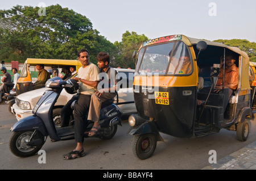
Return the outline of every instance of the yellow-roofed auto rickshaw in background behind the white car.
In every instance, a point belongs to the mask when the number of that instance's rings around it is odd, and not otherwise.
[[[50,69],[61,69],[65,66],[76,66],[76,70],[78,70],[82,66],[81,62],[78,60],[27,58],[17,81],[17,95],[33,90],[30,66],[36,66],[37,64],[44,64],[45,68],[48,67]]]

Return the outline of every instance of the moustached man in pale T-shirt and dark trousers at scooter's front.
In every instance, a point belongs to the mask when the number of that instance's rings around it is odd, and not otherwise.
[[[82,66],[77,71],[76,81],[79,81],[79,99],[74,106],[75,119],[75,141],[77,143],[76,149],[64,154],[64,159],[75,159],[83,157],[84,152],[84,117],[87,115],[90,106],[90,98],[96,91],[98,85],[98,74],[100,73],[96,65],[89,62],[89,52],[86,49],[81,49],[77,53],[77,58]]]

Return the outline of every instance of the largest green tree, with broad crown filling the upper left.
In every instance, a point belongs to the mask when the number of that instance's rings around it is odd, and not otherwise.
[[[115,49],[86,16],[60,5],[46,7],[46,16],[39,9],[18,5],[0,10],[0,60],[76,59],[77,51],[86,48],[95,63],[98,52]]]

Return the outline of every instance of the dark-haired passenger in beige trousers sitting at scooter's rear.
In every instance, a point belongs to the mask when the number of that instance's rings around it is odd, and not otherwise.
[[[101,111],[101,103],[106,100],[114,99],[119,90],[118,73],[114,68],[109,66],[109,54],[100,52],[97,55],[98,68],[100,68],[100,83],[98,84],[98,91],[92,95],[90,100],[90,108],[88,113],[88,120],[94,122],[93,128],[90,130],[88,136],[94,136],[101,128],[98,123]],[[101,79],[103,78],[103,79]]]

